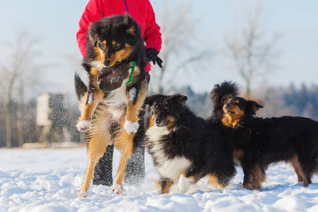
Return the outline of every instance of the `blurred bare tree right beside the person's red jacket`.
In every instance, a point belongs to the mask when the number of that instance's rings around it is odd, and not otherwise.
[[[157,93],[163,93],[163,83],[167,84],[167,89],[172,85],[172,81],[177,78],[180,71],[191,70],[191,65],[203,66],[206,57],[211,56],[211,50],[194,49],[196,37],[196,20],[189,16],[192,1],[178,1],[177,4],[164,0],[162,13],[159,14],[160,32],[162,34],[163,46],[159,57],[163,59],[163,68],[153,66],[151,75],[151,86]],[[193,69],[192,69],[193,70]],[[201,69],[204,70],[204,69]],[[196,71],[199,71],[196,69]]]

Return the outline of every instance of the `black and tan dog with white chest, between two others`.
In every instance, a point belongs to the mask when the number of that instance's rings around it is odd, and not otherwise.
[[[160,180],[160,194],[172,184],[187,192],[190,182],[208,176],[208,182],[225,187],[235,166],[225,148],[218,124],[208,125],[189,110],[184,95],[152,95],[146,98],[146,148]]]

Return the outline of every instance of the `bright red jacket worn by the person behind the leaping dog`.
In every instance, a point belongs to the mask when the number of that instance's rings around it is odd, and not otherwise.
[[[90,0],[83,12],[79,22],[79,30],[76,34],[78,47],[83,57],[86,55],[89,24],[103,17],[124,14],[127,9],[128,13],[141,26],[146,48],[154,48],[160,51],[162,44],[160,27],[155,23],[155,13],[149,0],[126,0],[126,5],[124,0]],[[146,71],[150,70],[151,66],[148,65]]]

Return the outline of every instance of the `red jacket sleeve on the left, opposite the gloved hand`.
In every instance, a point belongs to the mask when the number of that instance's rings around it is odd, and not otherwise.
[[[81,51],[82,56],[85,58],[86,56],[86,42],[88,40],[87,32],[90,26],[90,23],[94,23],[100,18],[104,17],[104,13],[102,12],[104,8],[104,4],[102,0],[90,0],[86,5],[85,10],[81,16],[79,21],[79,30],[76,34],[76,40],[78,44],[78,48]]]

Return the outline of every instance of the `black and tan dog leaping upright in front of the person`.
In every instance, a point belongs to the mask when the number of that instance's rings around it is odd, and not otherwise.
[[[88,37],[88,52],[83,61],[89,76],[88,87],[79,76],[75,77],[81,102],[81,118],[76,126],[80,131],[89,129],[88,167],[78,196],[88,196],[94,167],[111,144],[122,153],[112,186],[116,194],[121,194],[126,161],[139,136],[137,115],[148,93],[141,29],[129,15],[112,16],[91,24]]]

